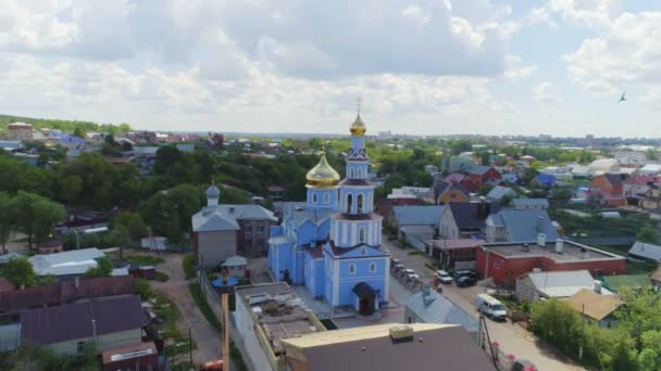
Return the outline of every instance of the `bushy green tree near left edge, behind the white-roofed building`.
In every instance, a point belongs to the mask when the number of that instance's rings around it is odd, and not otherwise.
[[[27,235],[27,245],[42,242],[51,233],[57,222],[63,221],[66,214],[62,205],[38,194],[18,191],[11,201],[15,212],[15,226]]]

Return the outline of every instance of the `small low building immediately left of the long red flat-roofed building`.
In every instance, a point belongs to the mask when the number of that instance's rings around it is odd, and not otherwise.
[[[429,256],[452,269],[475,269],[477,248],[485,241],[479,239],[428,241]]]

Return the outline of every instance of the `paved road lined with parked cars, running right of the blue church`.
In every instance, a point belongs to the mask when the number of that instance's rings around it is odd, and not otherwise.
[[[431,282],[434,276],[432,269],[425,266],[428,260],[421,255],[409,255],[411,250],[400,248],[394,241],[387,241],[384,235],[384,244],[390,248],[394,257],[402,260],[407,268],[414,269],[424,282]],[[444,295],[462,309],[477,318],[478,314],[474,304],[475,295],[484,291],[484,286],[459,289],[454,285],[444,285]],[[566,364],[554,355],[538,346],[535,338],[520,325],[511,322],[495,322],[487,320],[487,328],[491,341],[500,343],[501,349],[516,357],[527,358],[533,361],[540,371],[581,370],[581,368]]]

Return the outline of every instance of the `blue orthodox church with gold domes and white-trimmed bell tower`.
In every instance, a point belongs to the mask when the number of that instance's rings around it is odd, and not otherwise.
[[[381,247],[382,217],[373,213],[365,130],[359,113],[350,129],[346,179],[340,181],[322,153],[307,176],[307,202],[284,204],[282,225],[271,229],[269,269],[278,281],[304,285],[334,307],[369,315],[388,302],[390,254]]]

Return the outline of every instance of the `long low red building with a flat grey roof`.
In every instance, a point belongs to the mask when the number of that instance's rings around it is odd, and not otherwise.
[[[476,271],[506,287],[515,285],[517,277],[535,269],[546,271],[587,270],[594,277],[623,274],[626,258],[572,241],[557,240],[485,243],[477,250]]]

